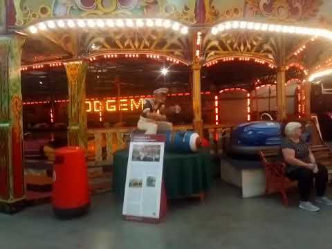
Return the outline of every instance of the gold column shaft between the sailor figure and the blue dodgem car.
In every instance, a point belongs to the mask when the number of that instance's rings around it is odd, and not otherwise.
[[[194,129],[203,136],[202,102],[201,102],[201,66],[192,65],[192,109]]]

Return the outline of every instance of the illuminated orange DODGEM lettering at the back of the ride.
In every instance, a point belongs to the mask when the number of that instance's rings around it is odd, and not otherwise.
[[[122,98],[119,100],[86,100],[85,106],[88,113],[101,111],[138,111],[143,109],[143,99]]]

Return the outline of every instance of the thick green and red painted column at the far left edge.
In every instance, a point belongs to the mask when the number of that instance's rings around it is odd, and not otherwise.
[[[0,35],[0,212],[23,208],[23,102],[21,54],[24,37]]]

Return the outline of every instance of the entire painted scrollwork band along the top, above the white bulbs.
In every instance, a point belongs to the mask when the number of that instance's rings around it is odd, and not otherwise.
[[[102,16],[163,17],[187,24],[244,18],[330,26],[331,10],[329,0],[9,0],[8,25],[22,27],[39,19]]]

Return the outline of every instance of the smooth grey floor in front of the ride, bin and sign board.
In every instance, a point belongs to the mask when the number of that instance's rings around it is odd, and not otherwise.
[[[88,216],[71,221],[55,219],[50,205],[0,214],[0,248],[332,248],[332,207],[311,213],[297,208],[296,193],[291,199],[290,208],[279,196],[243,200],[217,182],[205,203],[173,202],[165,221],[150,225],[122,221],[120,203],[101,194]]]

